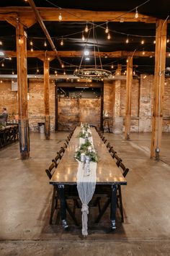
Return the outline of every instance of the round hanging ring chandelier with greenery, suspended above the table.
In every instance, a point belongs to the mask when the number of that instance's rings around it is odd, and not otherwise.
[[[94,29],[94,23],[91,26],[91,29],[89,30],[89,35],[91,33],[91,30],[92,30],[92,34],[93,34],[93,46],[94,46],[94,67],[85,68],[85,69],[81,67],[82,61],[83,61],[84,57],[86,56],[86,54],[83,54],[83,56],[81,57],[81,63],[79,65],[79,69],[76,69],[76,71],[73,74],[76,77],[79,77],[82,79],[101,81],[101,80],[104,80],[105,78],[109,78],[112,75],[112,72],[102,68],[102,60],[101,60],[101,56],[99,53],[99,46],[98,46],[98,42],[97,42],[96,32]],[[89,35],[86,40],[86,44],[88,43]],[[96,56],[96,52],[97,52],[97,56]],[[86,46],[84,49],[84,53],[86,53]],[[99,58],[99,64],[97,64],[97,57]]]

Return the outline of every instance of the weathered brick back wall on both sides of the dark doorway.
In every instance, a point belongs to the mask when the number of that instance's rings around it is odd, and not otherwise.
[[[11,88],[11,80],[0,80],[0,110],[3,106],[6,106],[9,112],[9,118],[13,119],[14,114],[18,112],[17,92],[12,92]],[[30,129],[32,131],[38,131],[37,123],[44,122],[43,88],[43,80],[29,80],[28,115]],[[125,88],[125,80],[104,82],[104,111],[107,111],[111,117],[111,121],[125,120]],[[138,104],[139,102],[140,104]],[[153,75],[141,75],[139,80],[133,80],[131,132],[151,132],[152,109]],[[122,131],[124,128],[122,125]],[[51,131],[55,129],[55,84],[52,81],[50,81],[50,129]],[[170,79],[167,78],[165,80],[164,121],[162,130],[164,132],[170,132]]]

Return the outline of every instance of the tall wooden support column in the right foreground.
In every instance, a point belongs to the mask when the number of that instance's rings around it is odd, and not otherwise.
[[[151,158],[158,160],[161,147],[161,133],[164,101],[164,71],[166,64],[167,22],[156,22],[155,74],[153,81],[153,120],[151,137]]]

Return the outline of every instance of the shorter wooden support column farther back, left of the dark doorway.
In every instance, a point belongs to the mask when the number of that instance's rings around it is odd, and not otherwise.
[[[44,103],[45,103],[45,137],[50,139],[50,81],[49,81],[50,61],[47,57],[44,59]]]

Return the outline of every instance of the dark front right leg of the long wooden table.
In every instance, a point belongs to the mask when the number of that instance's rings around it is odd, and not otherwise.
[[[116,229],[116,205],[117,205],[117,185],[112,184],[111,205],[110,205],[110,221],[111,229]]]

